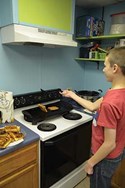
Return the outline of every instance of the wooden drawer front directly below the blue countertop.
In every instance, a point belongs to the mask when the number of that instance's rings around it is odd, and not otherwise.
[[[38,161],[38,143],[0,157],[0,178]]]

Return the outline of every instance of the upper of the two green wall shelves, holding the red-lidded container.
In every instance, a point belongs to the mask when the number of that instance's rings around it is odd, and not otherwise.
[[[102,36],[90,36],[90,37],[76,37],[76,40],[98,40],[98,39],[115,39],[115,38],[123,38],[125,34],[114,34],[114,35],[102,35]]]

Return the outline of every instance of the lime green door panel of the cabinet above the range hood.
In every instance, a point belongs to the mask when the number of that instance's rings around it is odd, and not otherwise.
[[[74,0],[18,0],[20,24],[72,33]]]

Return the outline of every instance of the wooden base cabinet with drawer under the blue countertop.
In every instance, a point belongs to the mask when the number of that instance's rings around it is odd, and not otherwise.
[[[38,188],[38,141],[0,157],[0,188]]]

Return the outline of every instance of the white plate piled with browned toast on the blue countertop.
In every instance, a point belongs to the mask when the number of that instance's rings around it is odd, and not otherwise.
[[[18,125],[5,125],[0,128],[0,149],[15,146],[24,141],[25,132]]]

